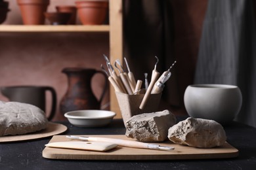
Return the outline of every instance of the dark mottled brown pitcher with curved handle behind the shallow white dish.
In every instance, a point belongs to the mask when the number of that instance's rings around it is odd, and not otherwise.
[[[107,78],[102,71],[79,67],[64,68],[62,73],[68,76],[68,90],[60,101],[62,114],[73,110],[99,110],[107,88]],[[105,85],[99,99],[91,88],[91,80],[96,73],[104,75]]]

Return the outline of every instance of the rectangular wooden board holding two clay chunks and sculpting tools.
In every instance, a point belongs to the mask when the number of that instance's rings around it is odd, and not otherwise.
[[[87,136],[87,135],[83,135]],[[90,135],[94,137],[112,137],[116,139],[128,139],[125,135]],[[60,141],[76,141],[68,139],[64,135],[53,136],[49,143]],[[63,148],[45,147],[43,157],[63,160],[194,160],[213,158],[234,158],[238,156],[238,150],[228,143],[216,148],[194,148],[173,144],[171,141],[158,143],[162,146],[174,146],[175,150],[150,150],[140,148],[128,148],[117,146],[107,152],[95,152],[87,150],[72,150]]]

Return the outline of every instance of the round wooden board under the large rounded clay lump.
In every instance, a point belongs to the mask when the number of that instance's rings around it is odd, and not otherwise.
[[[13,135],[13,136],[4,136],[0,137],[0,143],[7,142],[17,142],[17,141],[28,141],[32,139],[41,139],[44,137],[51,137],[53,135],[58,135],[66,131],[68,127],[62,124],[56,124],[53,122],[49,122],[48,127],[41,131],[36,131],[34,133],[28,133],[25,135]]]

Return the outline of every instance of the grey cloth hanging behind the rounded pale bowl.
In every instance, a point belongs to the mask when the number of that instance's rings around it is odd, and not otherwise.
[[[233,84],[243,95],[236,120],[256,127],[256,35],[251,0],[209,0],[194,84]]]

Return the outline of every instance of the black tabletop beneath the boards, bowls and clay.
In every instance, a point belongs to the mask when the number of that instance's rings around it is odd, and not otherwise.
[[[179,118],[182,120],[184,118]],[[66,135],[123,135],[122,120],[113,120],[106,127],[81,128],[68,122]],[[238,148],[239,156],[211,160],[165,161],[99,161],[99,160],[49,160],[42,157],[45,144],[51,137],[19,143],[0,143],[0,169],[256,169],[256,128],[232,122],[224,126],[228,143]]]

